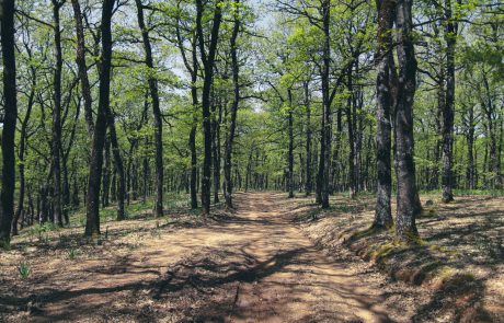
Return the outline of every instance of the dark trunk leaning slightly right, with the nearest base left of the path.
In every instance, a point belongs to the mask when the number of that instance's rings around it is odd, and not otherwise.
[[[100,184],[102,177],[103,146],[110,109],[111,61],[112,61],[112,14],[115,0],[104,0],[102,8],[102,55],[100,64],[100,99],[88,183],[87,237],[100,234]]]

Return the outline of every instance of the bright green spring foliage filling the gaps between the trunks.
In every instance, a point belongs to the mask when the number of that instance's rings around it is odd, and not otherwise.
[[[47,1],[20,1],[18,10],[47,24],[51,23],[51,5]],[[90,14],[84,24],[85,60],[93,99],[95,116],[99,99],[100,46],[98,10],[100,1],[84,1],[83,11]],[[215,1],[204,1],[203,33],[206,39],[211,32]],[[239,103],[238,127],[233,142],[232,168],[236,188],[243,189],[262,177],[277,187],[286,175],[288,154],[288,117],[294,118],[294,172],[299,186],[306,172],[307,135],[312,135],[312,173],[320,155],[321,130],[321,61],[324,33],[321,28],[320,1],[284,1],[290,8],[275,2],[257,3],[243,0],[222,1],[222,25],[217,46],[217,65],[213,83],[211,118],[220,127],[220,158],[229,134],[230,107],[233,100],[230,37],[233,21],[241,22],[238,35],[239,84],[242,100]],[[504,60],[503,18],[488,0],[451,1],[451,20],[448,11],[428,1],[414,2],[416,28],[414,42],[421,72],[417,76],[417,91],[414,103],[414,139],[417,186],[429,187],[431,176],[440,172],[439,150],[442,115],[439,113],[439,89],[446,83],[446,45],[456,44],[456,107],[454,132],[454,165],[459,188],[467,185],[468,136],[474,130],[473,155],[477,170],[478,191],[457,189],[456,194],[502,194],[495,187],[499,172],[489,168],[490,147],[500,145],[502,138]],[[192,84],[190,70],[182,59],[192,66],[192,46],[195,39],[195,3],[182,1],[149,1],[146,10],[147,30],[150,35],[153,67],[147,67],[144,59],[141,31],[135,14],[134,1],[124,3],[114,15],[114,50],[111,85],[111,108],[114,113],[119,154],[123,159],[130,194],[128,215],[137,216],[152,208],[148,197],[146,204],[133,200],[144,189],[144,166],[147,169],[147,185],[152,188],[154,170],[154,127],[151,116],[151,99],[148,80],[154,78],[163,114],[163,162],[164,176],[170,177],[171,191],[185,191],[191,171],[191,151],[187,145],[193,126],[196,127],[196,168],[203,163],[202,86],[204,70],[198,57],[197,80]],[[237,15],[237,12],[239,13]],[[76,32],[75,18],[69,2],[61,10],[62,30],[62,92],[65,117],[61,129],[65,174],[68,176],[70,194],[79,197],[81,204],[87,191],[90,164],[90,138],[83,118],[82,89],[75,67]],[[32,204],[39,198],[41,188],[50,188],[51,182],[51,104],[54,90],[54,33],[49,25],[36,23],[23,14],[16,15],[16,60],[19,79],[19,119],[27,120],[26,148],[23,159],[16,151],[18,168],[24,168],[25,208],[27,195]],[[448,23],[457,23],[457,34],[447,32]],[[376,72],[374,64],[376,46],[376,3],[374,1],[332,1],[330,18],[330,84],[334,94],[332,102],[332,171],[341,187],[348,186],[351,146],[357,142],[359,172],[366,181],[366,189],[374,191],[376,180]],[[391,33],[397,33],[392,30]],[[197,45],[197,44],[195,44]],[[197,49],[198,51],[199,49]],[[199,53],[197,53],[199,54]],[[196,55],[198,56],[198,55]],[[353,62],[353,65],[350,65]],[[352,67],[348,70],[348,67]],[[352,72],[352,73],[350,73]],[[442,76],[445,73],[444,76]],[[444,77],[444,80],[439,78]],[[35,81],[35,82],[33,82]],[[350,81],[353,85],[350,86]],[[308,95],[305,93],[305,84]],[[191,86],[196,86],[198,103],[193,104]],[[440,88],[439,88],[440,86]],[[31,99],[33,90],[34,96]],[[288,93],[291,94],[289,102]],[[260,99],[254,99],[260,97]],[[354,101],[354,103],[352,103]],[[27,106],[33,108],[27,119]],[[354,108],[355,107],[355,108]],[[493,107],[493,111],[490,111]],[[308,113],[311,119],[308,122]],[[473,115],[470,120],[470,115]],[[350,126],[354,138],[350,138]],[[21,126],[19,126],[21,129]],[[492,130],[491,130],[492,129]],[[494,141],[494,142],[493,142]],[[16,147],[21,136],[16,132]],[[437,152],[436,152],[437,149]],[[497,149],[497,150],[499,150]],[[497,155],[502,159],[502,153]],[[497,163],[499,164],[499,163]],[[500,161],[502,164],[502,161]],[[114,162],[108,171],[114,173]],[[222,175],[222,174],[221,174]],[[247,176],[251,178],[247,178]],[[393,175],[394,176],[394,175]],[[62,176],[65,177],[65,176]],[[49,181],[48,181],[49,178]],[[18,175],[18,181],[19,181]],[[117,178],[116,178],[117,180]],[[220,178],[222,180],[222,178]],[[249,181],[247,184],[245,182]],[[396,178],[393,180],[396,182]],[[135,182],[135,184],[134,184]],[[439,181],[438,181],[439,182]],[[66,184],[66,183],[62,183]],[[16,183],[19,185],[19,182]],[[65,185],[64,185],[65,186]],[[75,187],[73,187],[75,186]],[[175,187],[176,186],[176,187]],[[438,185],[439,186],[439,185]],[[250,187],[249,187],[250,188]],[[302,187],[301,187],[302,188]],[[136,191],[136,192],[134,192]],[[147,189],[149,191],[149,189]],[[135,194],[134,194],[135,193]],[[149,192],[150,193],[150,192]],[[46,194],[51,203],[50,193]],[[167,208],[188,207],[187,196],[169,193]],[[66,210],[77,206],[66,205]],[[350,211],[350,210],[342,210]],[[116,218],[114,207],[102,209],[104,220]],[[72,221],[83,226],[84,212],[79,210]],[[47,227],[49,226],[49,227]],[[47,241],[51,224],[35,226],[30,237]]]

